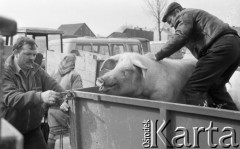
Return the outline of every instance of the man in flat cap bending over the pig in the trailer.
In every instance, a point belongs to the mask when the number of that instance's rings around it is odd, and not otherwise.
[[[183,46],[198,59],[184,89],[187,103],[202,105],[202,101],[210,96],[214,105],[237,110],[225,88],[240,61],[237,32],[206,11],[183,9],[176,2],[168,6],[162,21],[174,27],[175,34],[156,53],[156,60],[170,56]]]

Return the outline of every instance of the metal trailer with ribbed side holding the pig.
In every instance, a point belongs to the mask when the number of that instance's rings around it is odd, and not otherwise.
[[[73,149],[239,148],[240,112],[70,91]]]

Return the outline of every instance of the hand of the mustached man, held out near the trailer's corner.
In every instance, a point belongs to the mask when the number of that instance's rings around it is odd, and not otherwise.
[[[50,105],[55,104],[56,100],[59,99],[60,97],[61,97],[60,93],[52,91],[52,90],[48,90],[48,91],[41,93],[41,98],[42,98],[43,102],[50,104]]]

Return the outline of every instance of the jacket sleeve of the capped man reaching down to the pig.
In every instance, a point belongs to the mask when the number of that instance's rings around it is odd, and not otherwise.
[[[169,57],[180,50],[189,40],[193,29],[193,18],[189,14],[183,14],[176,18],[176,30],[173,37],[156,53],[156,60]]]

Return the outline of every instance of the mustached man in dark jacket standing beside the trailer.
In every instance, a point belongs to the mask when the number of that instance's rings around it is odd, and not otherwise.
[[[33,39],[18,38],[13,50],[4,65],[0,115],[23,134],[24,149],[46,149],[40,129],[43,107],[56,104],[64,90],[34,63],[37,45]]]

